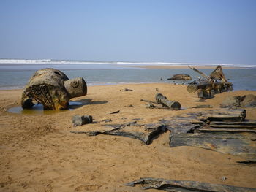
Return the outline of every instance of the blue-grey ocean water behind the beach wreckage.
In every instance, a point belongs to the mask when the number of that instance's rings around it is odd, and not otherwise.
[[[0,89],[23,88],[29,78],[38,69],[51,67],[59,69],[69,79],[83,77],[87,85],[114,85],[126,83],[166,82],[173,74],[189,74],[197,79],[192,69],[145,69],[116,64],[0,64]],[[210,74],[213,69],[200,69]],[[256,68],[249,69],[223,69],[225,76],[233,82],[234,90],[256,91]],[[162,80],[161,80],[162,78]],[[176,81],[176,83],[182,83]]]

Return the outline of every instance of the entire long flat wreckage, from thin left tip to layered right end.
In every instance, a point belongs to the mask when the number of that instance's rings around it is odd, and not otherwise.
[[[164,118],[157,123],[103,124],[98,130],[71,131],[75,134],[116,135],[139,139],[146,145],[156,136],[170,131],[169,145],[203,147],[231,155],[243,162],[256,162],[256,121],[245,120],[246,110],[219,109]]]

